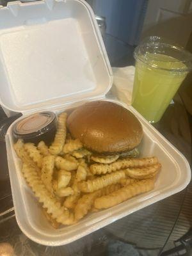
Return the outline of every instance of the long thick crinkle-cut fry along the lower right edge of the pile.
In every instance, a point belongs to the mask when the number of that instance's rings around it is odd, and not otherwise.
[[[96,198],[94,207],[97,209],[107,209],[114,205],[120,204],[133,196],[148,192],[153,188],[154,179],[139,180],[133,184],[120,188],[109,195]]]

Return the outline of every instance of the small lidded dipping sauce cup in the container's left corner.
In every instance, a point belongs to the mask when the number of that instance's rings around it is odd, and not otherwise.
[[[37,144],[43,140],[50,145],[56,133],[57,117],[53,112],[41,112],[23,118],[13,127],[15,140]]]

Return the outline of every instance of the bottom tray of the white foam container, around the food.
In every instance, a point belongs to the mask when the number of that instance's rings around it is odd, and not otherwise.
[[[71,243],[132,212],[173,195],[188,185],[191,179],[191,170],[186,158],[132,107],[121,102],[111,101],[132,111],[143,125],[144,136],[140,145],[141,157],[157,156],[162,164],[154,190],[131,198],[111,209],[88,214],[75,225],[55,230],[45,219],[38,200],[22,177],[21,161],[13,149],[12,124],[6,136],[6,146],[15,216],[22,232],[36,243],[49,246]],[[72,107],[74,104],[68,108]],[[62,109],[62,111],[64,110]],[[60,111],[59,109],[55,110],[56,113],[60,113]]]

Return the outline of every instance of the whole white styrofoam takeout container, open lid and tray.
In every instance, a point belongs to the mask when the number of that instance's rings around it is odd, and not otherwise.
[[[83,0],[17,2],[1,8],[0,61],[0,103],[23,116],[42,110],[60,113],[87,100],[104,100],[113,81],[99,28]],[[140,119],[141,156],[157,156],[162,164],[154,190],[55,230],[20,172],[22,163],[13,150],[13,123],[6,147],[15,216],[22,232],[36,243],[71,243],[188,185],[191,170],[185,157],[132,107],[111,101]]]

